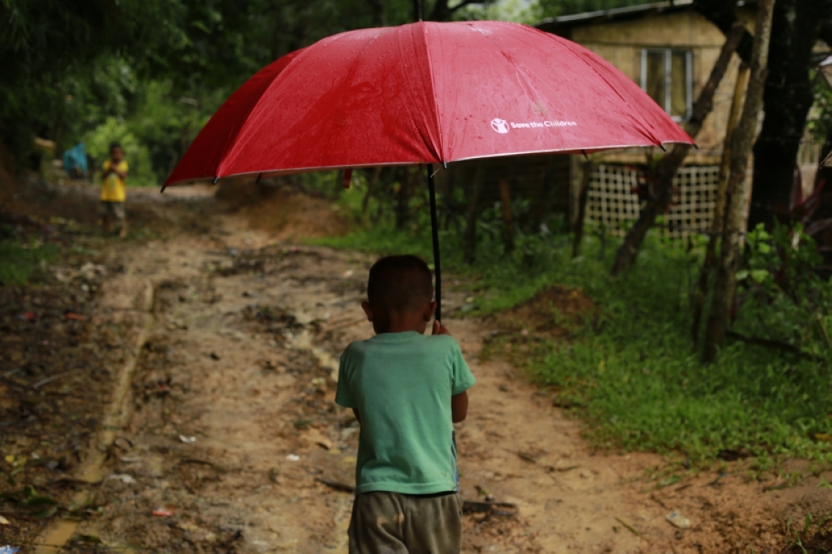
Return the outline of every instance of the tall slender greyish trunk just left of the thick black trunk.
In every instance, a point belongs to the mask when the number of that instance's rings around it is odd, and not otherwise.
[[[722,231],[720,265],[716,272],[714,298],[705,333],[705,349],[702,361],[710,364],[725,338],[731,304],[736,289],[736,271],[740,265],[740,222],[745,198],[745,173],[748,156],[757,128],[757,117],[763,102],[766,63],[771,38],[771,18],[775,0],[760,0],[757,6],[757,22],[754,33],[754,50],[751,54],[750,80],[745,95],[740,122],[731,136],[730,177],[726,186],[725,227]]]

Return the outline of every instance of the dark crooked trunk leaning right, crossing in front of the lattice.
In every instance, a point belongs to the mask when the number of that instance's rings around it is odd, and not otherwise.
[[[744,27],[741,27],[739,23],[735,24],[722,46],[720,57],[717,59],[713,70],[711,70],[711,77],[705,87],[702,88],[699,99],[696,100],[696,105],[693,106],[691,120],[687,123],[686,131],[691,137],[696,138],[702,128],[702,122],[711,112],[716,88],[719,87],[722,77],[725,76],[730,57],[740,44],[745,32]],[[679,171],[682,161],[685,160],[690,150],[691,146],[686,144],[673,146],[673,150],[663,156],[656,165],[656,169],[651,171],[649,176],[652,184],[650,198],[639,213],[636,224],[627,231],[624,242],[618,248],[616,260],[612,265],[613,277],[621,275],[632,267],[636,261],[638,249],[641,248],[641,243],[644,242],[647,231],[656,221],[656,216],[671,205],[671,200],[673,200],[673,177],[676,176],[676,172]]]

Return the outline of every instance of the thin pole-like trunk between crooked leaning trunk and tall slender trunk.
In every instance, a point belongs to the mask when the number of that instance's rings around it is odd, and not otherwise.
[[[740,111],[742,109],[742,98],[745,96],[745,87],[748,85],[748,66],[745,62],[740,67],[740,72],[736,76],[736,83],[734,86],[734,99],[731,101],[730,115],[728,116],[728,126],[726,129],[726,138],[722,146],[722,163],[720,165],[719,188],[716,191],[716,206],[714,208],[713,220],[711,220],[711,236],[708,237],[708,245],[705,251],[705,260],[702,262],[702,269],[699,273],[698,288],[694,293],[693,298],[693,324],[691,325],[691,335],[694,342],[699,338],[699,328],[702,323],[702,309],[705,305],[705,297],[708,292],[708,279],[711,278],[711,272],[716,262],[716,242],[722,236],[723,228],[725,227],[725,196],[726,188],[728,187],[728,176],[730,176],[730,141],[734,134],[737,122],[740,120]]]

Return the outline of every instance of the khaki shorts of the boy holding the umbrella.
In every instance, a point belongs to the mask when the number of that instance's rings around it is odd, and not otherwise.
[[[439,497],[359,494],[349,522],[349,554],[458,554],[462,517],[457,492]]]

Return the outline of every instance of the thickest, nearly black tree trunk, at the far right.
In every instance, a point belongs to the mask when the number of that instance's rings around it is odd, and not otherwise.
[[[806,116],[815,101],[810,56],[832,0],[777,0],[765,83],[765,121],[754,146],[754,190],[749,228],[772,225],[789,209],[795,163]]]

